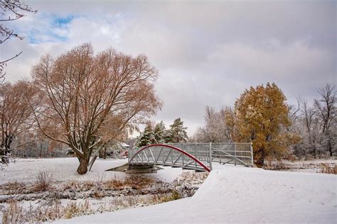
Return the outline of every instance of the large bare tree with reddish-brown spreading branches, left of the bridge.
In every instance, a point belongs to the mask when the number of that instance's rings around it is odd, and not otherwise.
[[[68,145],[80,162],[77,172],[85,174],[93,152],[161,107],[154,93],[157,74],[144,55],[111,48],[94,55],[90,44],[55,60],[42,57],[32,71],[39,94],[29,101],[36,125]]]

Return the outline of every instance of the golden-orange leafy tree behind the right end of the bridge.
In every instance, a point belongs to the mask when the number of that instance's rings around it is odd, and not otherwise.
[[[272,83],[250,87],[235,101],[235,141],[251,141],[257,165],[266,157],[282,158],[298,140],[287,132],[289,106],[279,87]]]

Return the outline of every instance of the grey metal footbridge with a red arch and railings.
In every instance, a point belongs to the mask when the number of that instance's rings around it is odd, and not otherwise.
[[[129,169],[154,165],[196,171],[212,170],[212,163],[252,167],[252,143],[173,143],[155,144],[129,150]],[[132,168],[137,167],[137,168]]]

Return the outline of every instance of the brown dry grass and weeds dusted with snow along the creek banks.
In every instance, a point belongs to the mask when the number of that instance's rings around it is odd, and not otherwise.
[[[160,181],[156,181],[151,177],[142,175],[129,175],[124,179],[114,177],[109,181],[103,181],[103,177],[97,178],[96,181],[69,181],[60,187],[61,191],[70,191],[77,193],[89,191],[84,194],[89,198],[102,198],[107,196],[107,191],[120,191],[120,196],[114,196],[110,200],[105,201],[99,208],[90,208],[90,199],[78,203],[70,201],[66,205],[62,205],[58,198],[41,198],[36,204],[33,203],[29,208],[22,208],[17,201],[11,201],[9,206],[4,209],[2,223],[41,223],[50,222],[60,218],[73,218],[79,215],[89,215],[93,213],[102,213],[105,211],[115,211],[124,208],[132,208],[139,206],[148,206],[156,203],[164,203],[177,200],[186,196],[185,191],[195,192],[198,189],[198,183],[202,182],[208,173],[184,172],[181,177],[173,183],[173,188],[168,188]],[[185,184],[184,184],[185,182]],[[41,172],[36,183],[32,186],[24,186],[19,183],[9,183],[1,186],[0,189],[15,189],[18,187],[26,187],[28,190],[35,187],[36,190],[43,191],[49,189],[50,192],[58,191],[57,184],[50,188],[51,176],[46,172]],[[186,187],[186,183],[192,184],[191,189]],[[164,188],[158,191],[156,187]],[[144,194],[144,189],[147,193]],[[175,189],[175,190],[173,190]],[[187,189],[187,190],[186,190]],[[131,192],[131,193],[130,193]],[[193,194],[188,194],[193,195]],[[109,200],[109,198],[107,198]]]

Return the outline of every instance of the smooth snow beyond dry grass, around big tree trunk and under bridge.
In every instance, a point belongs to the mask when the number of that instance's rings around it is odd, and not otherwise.
[[[77,174],[77,158],[55,159],[16,159],[8,167],[0,171],[0,184],[7,182],[32,182],[38,173],[47,171],[52,174],[54,181],[96,181],[97,179],[109,180],[114,177],[124,177],[123,172],[105,172],[107,169],[118,167],[127,163],[127,159],[97,159],[91,172],[85,175]],[[171,182],[182,173],[181,169],[164,167],[157,174],[148,174],[163,181]]]

